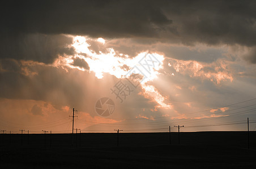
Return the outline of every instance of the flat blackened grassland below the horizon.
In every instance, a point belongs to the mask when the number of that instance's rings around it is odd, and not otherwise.
[[[256,168],[254,131],[0,136],[0,168]]]

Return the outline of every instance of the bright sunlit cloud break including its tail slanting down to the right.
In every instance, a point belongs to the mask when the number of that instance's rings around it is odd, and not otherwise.
[[[97,78],[103,78],[103,73],[112,74],[117,78],[124,78],[125,75],[129,73],[129,70],[136,66],[136,68],[138,68],[146,77],[144,81],[141,82],[142,88],[145,90],[144,95],[152,98],[159,104],[156,108],[171,108],[169,104],[164,103],[165,98],[156,90],[156,88],[147,84],[147,82],[156,79],[159,74],[158,71],[163,69],[163,55],[154,53],[152,55],[150,54],[148,57],[147,52],[141,52],[137,56],[130,58],[127,55],[125,56],[122,54],[118,56],[113,48],[107,48],[107,52],[105,53],[101,51],[96,53],[89,49],[90,45],[87,43],[88,39],[88,37],[81,36],[73,37],[72,46],[77,52],[74,57],[84,59],[88,63],[90,71],[95,72]],[[98,38],[97,42],[104,44],[105,40],[103,38]],[[155,59],[153,62],[152,58]],[[142,59],[145,59],[146,61],[143,60],[144,62],[142,62]],[[71,65],[72,61],[70,60],[72,60],[71,57],[66,59],[66,65],[69,65],[70,68],[75,68]],[[139,64],[139,62],[141,64]],[[153,68],[150,69],[150,71],[147,69],[148,65],[153,65]]]

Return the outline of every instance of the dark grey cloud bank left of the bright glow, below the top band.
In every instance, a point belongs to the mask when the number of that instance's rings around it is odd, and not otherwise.
[[[72,55],[74,48],[67,47],[72,43],[71,37],[46,34],[6,34],[0,39],[0,57],[22,60],[35,60],[52,63],[58,55]]]

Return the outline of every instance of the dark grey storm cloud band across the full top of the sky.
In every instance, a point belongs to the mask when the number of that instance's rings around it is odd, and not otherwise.
[[[2,5],[1,32],[250,46],[255,7],[255,1],[15,1]]]

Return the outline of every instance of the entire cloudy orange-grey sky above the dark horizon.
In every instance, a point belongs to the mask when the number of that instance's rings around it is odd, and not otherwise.
[[[255,8],[5,1],[0,129],[69,133],[74,108],[81,132],[255,130]]]

